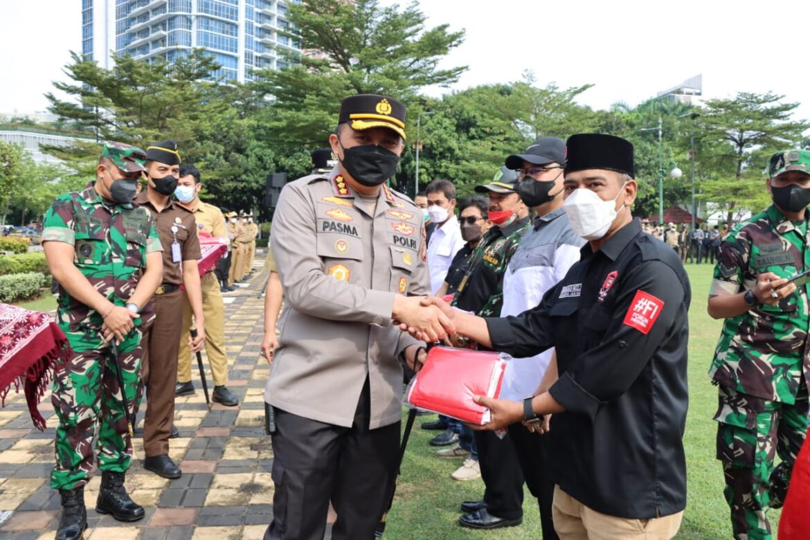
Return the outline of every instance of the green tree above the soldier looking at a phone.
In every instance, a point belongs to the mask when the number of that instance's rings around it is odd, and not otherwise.
[[[798,147],[808,121],[791,119],[798,103],[783,103],[772,92],[739,92],[734,98],[707,100],[698,119],[699,167],[706,180],[701,197],[724,208],[727,221],[740,210],[757,212],[768,204],[761,180],[768,156]]]

